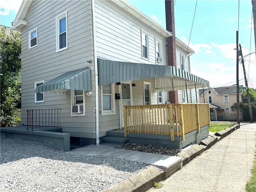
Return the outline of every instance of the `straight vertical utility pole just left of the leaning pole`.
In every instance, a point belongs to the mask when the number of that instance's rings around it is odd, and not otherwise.
[[[237,112],[237,123],[240,127],[240,101],[239,101],[239,76],[238,76],[238,67],[239,67],[239,50],[238,50],[238,31],[236,31],[236,112]]]

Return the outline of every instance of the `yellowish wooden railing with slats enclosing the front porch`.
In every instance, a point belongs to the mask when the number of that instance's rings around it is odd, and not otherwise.
[[[181,136],[210,125],[209,104],[124,106],[124,135],[128,133]]]

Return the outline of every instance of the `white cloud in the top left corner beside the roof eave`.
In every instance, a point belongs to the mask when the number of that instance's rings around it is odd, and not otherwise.
[[[22,0],[1,0],[0,15],[9,15],[17,13]]]

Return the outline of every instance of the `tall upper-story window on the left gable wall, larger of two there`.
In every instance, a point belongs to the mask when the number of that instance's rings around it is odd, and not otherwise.
[[[56,17],[56,52],[68,48],[67,12]]]

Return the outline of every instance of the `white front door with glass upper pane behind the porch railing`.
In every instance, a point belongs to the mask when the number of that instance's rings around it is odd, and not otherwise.
[[[124,127],[124,108],[123,106],[132,105],[132,83],[125,82],[121,84],[121,114],[122,127]]]

